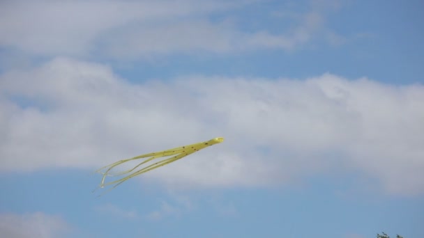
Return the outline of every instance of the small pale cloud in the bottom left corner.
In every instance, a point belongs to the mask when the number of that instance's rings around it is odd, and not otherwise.
[[[63,237],[69,225],[58,216],[34,214],[0,214],[0,234],[8,238]]]

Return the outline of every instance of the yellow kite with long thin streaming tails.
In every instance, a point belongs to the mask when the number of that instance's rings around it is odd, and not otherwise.
[[[142,173],[146,173],[146,172],[153,170],[155,168],[159,168],[161,166],[164,166],[165,164],[172,163],[172,162],[174,162],[178,159],[181,159],[183,157],[188,156],[189,154],[192,154],[194,152],[202,150],[203,148],[209,147],[211,145],[215,145],[217,143],[221,143],[222,141],[224,141],[224,138],[217,137],[217,138],[213,138],[209,141],[204,141],[204,142],[201,142],[201,143],[195,143],[195,144],[192,144],[192,145],[185,145],[185,146],[181,146],[181,147],[178,147],[178,148],[173,148],[173,149],[170,149],[170,150],[164,150],[164,151],[160,151],[160,152],[142,154],[142,155],[139,155],[137,157],[132,157],[130,159],[123,159],[123,160],[117,161],[114,164],[109,164],[108,166],[105,166],[103,168],[96,170],[96,173],[100,173],[100,174],[103,175],[102,182],[100,182],[99,187],[103,188],[103,187],[108,186],[108,185],[114,185],[111,188],[111,189],[114,189],[116,186],[125,182],[126,180],[129,180],[131,177],[141,175]],[[144,168],[139,168],[143,164],[146,164],[147,162],[152,161],[153,159],[158,159],[158,158],[162,158],[162,157],[170,157],[170,158],[162,159],[161,161],[153,163],[149,166],[145,166]],[[136,160],[136,159],[144,159],[144,161],[137,164],[137,166],[135,166],[134,168],[131,168],[130,170],[126,170],[126,171],[119,172],[119,173],[112,173],[112,171],[111,171],[112,168],[115,168],[116,166],[119,166],[120,164],[126,163],[128,161],[133,161],[133,160]],[[137,168],[138,168],[138,170],[136,170]],[[123,175],[125,175],[125,177],[122,177],[121,179],[114,180],[112,182],[105,182],[105,179],[106,179],[107,176],[123,176]]]

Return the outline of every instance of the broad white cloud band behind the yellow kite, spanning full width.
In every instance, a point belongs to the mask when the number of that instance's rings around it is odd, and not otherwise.
[[[129,84],[58,58],[0,76],[0,169],[100,167],[225,136],[146,173],[172,187],[268,186],[358,172],[424,192],[424,87],[324,74],[303,81],[182,77]]]

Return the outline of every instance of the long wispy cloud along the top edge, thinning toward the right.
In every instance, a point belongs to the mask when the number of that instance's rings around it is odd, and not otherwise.
[[[256,1],[3,1],[0,46],[33,56],[144,58],[156,54],[295,49],[321,32],[324,11],[291,19],[283,33],[230,24],[231,11]],[[213,14],[224,13],[222,20]],[[274,19],[275,20],[275,19]],[[278,19],[277,19],[278,20]],[[340,40],[339,40],[340,42]],[[12,54],[13,57],[14,54]]]

